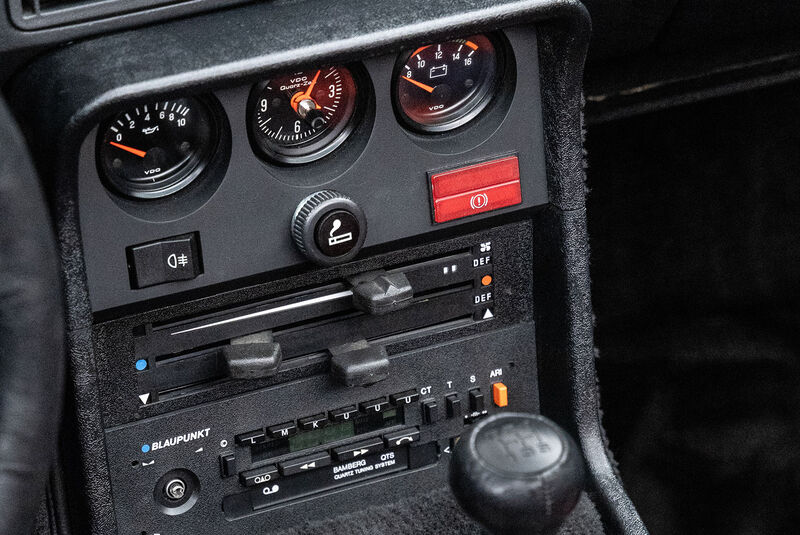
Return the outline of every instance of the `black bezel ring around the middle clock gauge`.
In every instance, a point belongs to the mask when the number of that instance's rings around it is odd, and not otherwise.
[[[353,79],[355,97],[352,99],[351,105],[353,109],[350,113],[350,117],[342,125],[337,125],[334,131],[315,138],[307,144],[300,144],[295,147],[281,147],[278,144],[270,142],[256,131],[253,117],[261,92],[275,74],[282,75],[285,71],[273,73],[271,77],[265,78],[255,84],[247,98],[245,117],[247,123],[247,137],[250,140],[250,146],[253,148],[253,152],[255,152],[257,156],[269,163],[277,163],[280,165],[302,165],[315,162],[338,149],[356,130],[356,127],[364,116],[365,92],[369,87],[369,84],[367,84],[365,80],[367,76],[366,70],[360,64],[351,63],[326,64],[320,67],[309,67],[304,70],[328,67],[343,67],[348,70]]]

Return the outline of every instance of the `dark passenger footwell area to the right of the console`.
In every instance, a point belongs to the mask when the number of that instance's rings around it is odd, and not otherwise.
[[[800,529],[798,95],[588,134],[605,425],[655,535]]]

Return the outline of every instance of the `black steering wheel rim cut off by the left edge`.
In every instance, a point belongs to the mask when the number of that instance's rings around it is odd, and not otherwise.
[[[0,533],[31,532],[58,435],[64,311],[55,240],[0,100]]]

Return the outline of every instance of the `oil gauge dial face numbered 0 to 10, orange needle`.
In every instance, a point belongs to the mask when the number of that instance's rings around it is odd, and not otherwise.
[[[117,193],[140,199],[164,197],[201,174],[217,139],[213,114],[202,100],[148,102],[101,126],[98,167]]]

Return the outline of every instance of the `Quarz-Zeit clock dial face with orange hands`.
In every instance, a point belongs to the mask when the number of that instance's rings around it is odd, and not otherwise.
[[[346,67],[280,74],[253,88],[250,137],[268,159],[311,162],[350,135],[357,104],[356,82]]]

